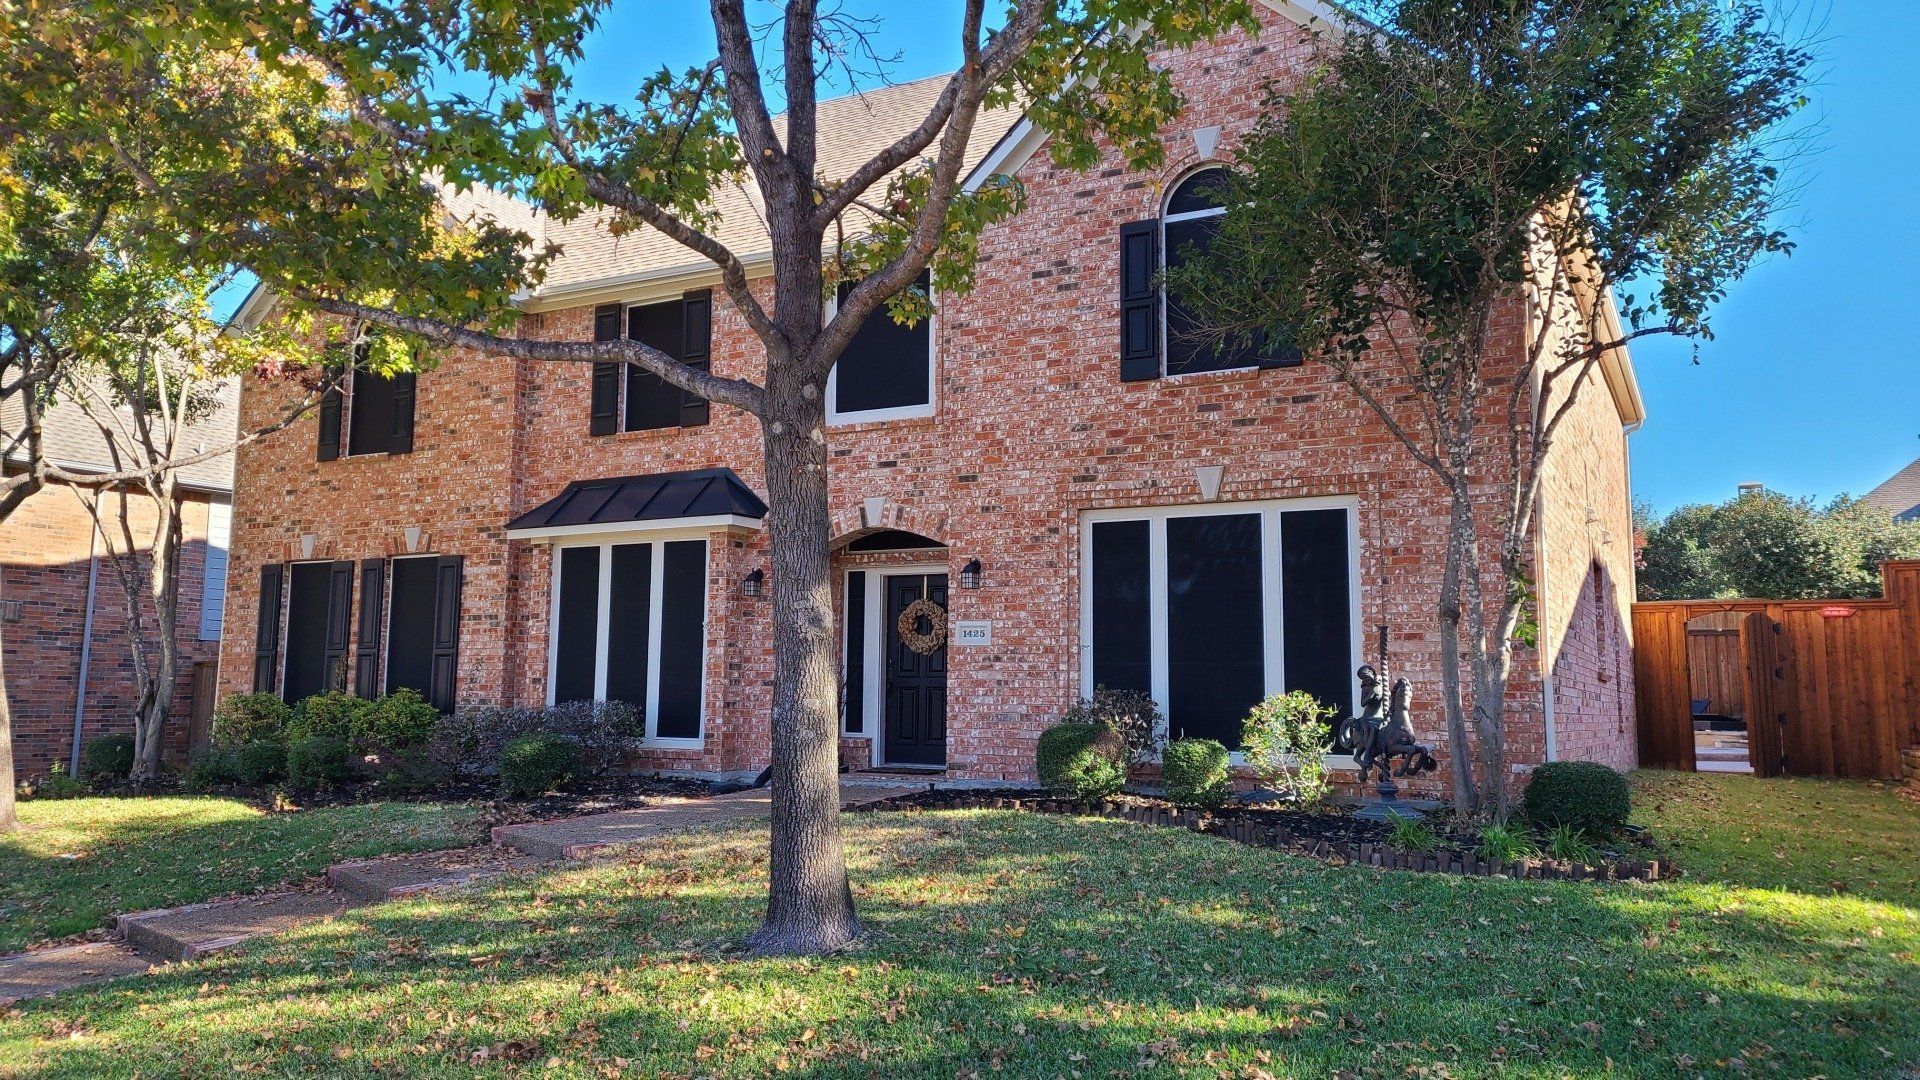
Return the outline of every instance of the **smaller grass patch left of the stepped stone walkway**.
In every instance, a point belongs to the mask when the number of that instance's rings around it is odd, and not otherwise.
[[[430,803],[261,813],[217,798],[35,799],[0,834],[0,955],[111,915],[276,886],[330,863],[480,840],[478,815]]]

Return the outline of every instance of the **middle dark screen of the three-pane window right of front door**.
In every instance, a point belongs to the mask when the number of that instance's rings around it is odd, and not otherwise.
[[[1265,696],[1260,515],[1167,519],[1167,723],[1240,746]]]

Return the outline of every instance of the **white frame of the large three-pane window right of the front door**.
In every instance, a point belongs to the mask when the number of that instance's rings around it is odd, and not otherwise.
[[[1286,688],[1286,626],[1284,596],[1281,592],[1281,515],[1304,509],[1344,509],[1346,511],[1346,594],[1348,623],[1352,638],[1348,642],[1348,671],[1361,663],[1365,651],[1365,630],[1361,613],[1361,575],[1359,575],[1359,498],[1357,496],[1315,496],[1300,500],[1258,500],[1258,502],[1212,502],[1185,505],[1142,505],[1087,509],[1079,519],[1079,688],[1081,698],[1092,698],[1092,525],[1102,521],[1146,521],[1146,611],[1148,611],[1148,696],[1167,709],[1167,521],[1173,517],[1219,517],[1219,515],[1260,515],[1260,611],[1261,611],[1261,657],[1265,659],[1265,694],[1279,694]],[[1354,680],[1354,700],[1359,700],[1359,680]],[[1344,721],[1338,717],[1334,723]],[[1171,734],[1171,717],[1162,715],[1160,736]],[[1235,751],[1233,763],[1244,765],[1244,755]],[[1344,753],[1327,753],[1329,767],[1352,767]]]

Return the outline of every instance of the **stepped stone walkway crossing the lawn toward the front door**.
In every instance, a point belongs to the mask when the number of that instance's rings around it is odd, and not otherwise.
[[[920,786],[924,784],[841,782],[841,805],[851,809]],[[493,830],[492,847],[340,863],[326,871],[326,888],[121,915],[113,920],[119,932],[115,942],[86,942],[0,957],[0,1005],[140,974],[157,963],[190,961],[263,934],[332,919],[363,903],[453,888],[511,871],[532,871],[561,859],[588,859],[609,847],[684,828],[760,819],[770,807],[772,798],[766,790],[751,790],[710,799],[660,799],[657,805],[630,811],[503,824]]]

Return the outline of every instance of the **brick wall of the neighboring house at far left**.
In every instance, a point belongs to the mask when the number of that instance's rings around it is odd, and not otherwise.
[[[113,505],[109,496],[108,505]],[[129,498],[132,534],[152,536],[154,503]],[[117,511],[115,511],[117,513]],[[180,678],[175,688],[169,753],[186,746],[192,715],[192,665],[215,659],[217,644],[200,640],[200,601],[205,575],[207,498],[186,496],[180,527]],[[40,776],[50,765],[67,765],[73,749],[73,705],[79,692],[81,644],[86,626],[86,567],[92,519],[79,498],[50,484],[21,503],[0,527],[0,596],[19,600],[21,621],[0,625],[6,642],[8,703],[13,709],[13,765],[19,774]],[[115,542],[115,548],[121,548]],[[131,732],[134,696],[132,651],[127,638],[125,594],[106,546],[94,588],[94,628],[86,675],[86,707],[81,740]],[[144,561],[138,567],[144,575]],[[140,582],[144,586],[144,578]]]

